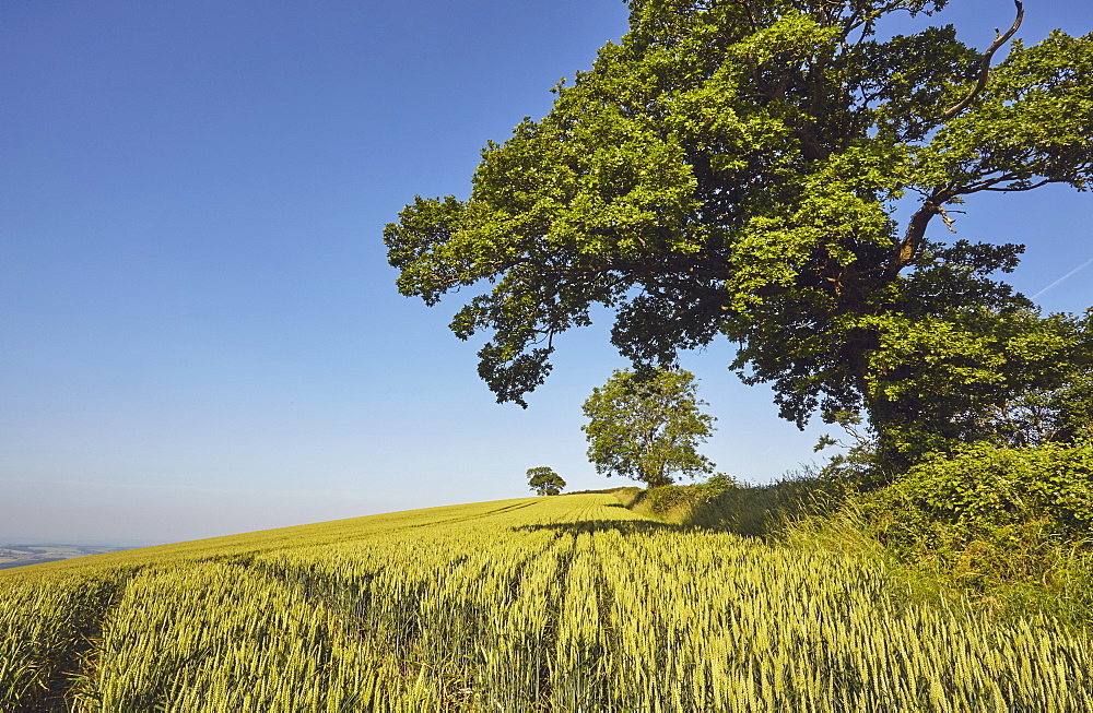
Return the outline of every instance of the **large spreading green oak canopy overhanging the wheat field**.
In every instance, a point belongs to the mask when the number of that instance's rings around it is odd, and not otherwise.
[[[863,409],[882,436],[959,436],[1013,340],[1044,361],[1089,345],[1088,323],[1042,324],[997,280],[1021,246],[941,238],[974,193],[1086,188],[1093,35],[1025,46],[1020,2],[985,50],[951,25],[877,32],[945,4],[631,0],[630,32],[553,110],[487,145],[468,200],[419,197],[388,226],[399,288],[434,305],[491,286],[451,329],[490,334],[498,401],[522,404],[552,337],[604,306],[638,366],[724,336],[798,424]]]

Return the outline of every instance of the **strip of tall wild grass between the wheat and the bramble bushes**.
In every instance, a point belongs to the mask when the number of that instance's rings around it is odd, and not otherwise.
[[[1093,535],[1060,537],[1045,519],[1029,518],[955,537],[951,522],[901,491],[898,484],[862,490],[855,478],[803,468],[713,495],[698,484],[630,488],[624,499],[662,522],[870,559],[919,599],[994,617],[1046,615],[1093,631]]]

